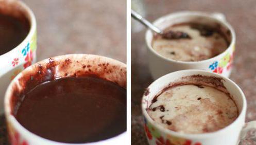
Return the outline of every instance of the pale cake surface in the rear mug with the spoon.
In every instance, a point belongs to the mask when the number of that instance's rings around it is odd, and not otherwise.
[[[228,48],[225,38],[216,31],[206,37],[190,25],[177,25],[165,29],[165,31],[169,30],[185,32],[190,35],[191,39],[168,40],[162,37],[155,37],[152,42],[152,48],[168,59],[202,61],[213,58]]]

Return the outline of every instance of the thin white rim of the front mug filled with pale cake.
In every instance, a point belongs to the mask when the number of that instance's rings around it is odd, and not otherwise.
[[[246,107],[247,107],[247,103],[246,102],[247,101],[246,101],[246,98],[245,98],[245,95],[244,95],[242,89],[235,82],[233,82],[231,79],[229,79],[227,77],[221,76],[219,74],[216,74],[214,72],[210,72],[210,71],[207,71],[207,70],[186,69],[186,70],[179,70],[179,71],[170,72],[169,74],[166,74],[166,75],[158,78],[157,80],[153,81],[147,88],[150,89],[153,84],[155,84],[159,80],[163,80],[167,76],[173,76],[175,74],[185,74],[185,73],[188,73],[188,72],[192,72],[190,75],[198,74],[198,75],[207,75],[207,76],[214,76],[214,77],[222,78],[225,81],[227,81],[227,82],[231,83],[232,85],[234,85],[235,89],[237,89],[241,93],[241,97],[240,98],[242,98],[242,100],[243,100],[242,108],[241,108],[240,113],[238,114],[238,117],[232,123],[230,123],[229,125],[225,126],[225,128],[219,129],[219,130],[214,131],[214,132],[197,133],[197,134],[175,132],[175,131],[166,129],[163,126],[161,126],[160,124],[158,124],[155,121],[153,121],[153,119],[148,115],[145,107],[143,106],[142,101],[146,97],[148,97],[148,96],[145,96],[143,94],[142,100],[141,100],[141,108],[142,108],[142,115],[146,118],[146,120],[149,121],[153,126],[155,126],[160,132],[164,132],[165,134],[171,134],[171,135],[179,136],[179,137],[182,137],[182,138],[197,138],[197,139],[210,138],[210,137],[213,137],[213,136],[220,135],[220,134],[224,133],[227,129],[233,128],[234,125],[236,124],[236,122],[240,121],[242,119],[242,117],[243,117],[243,114],[246,112]],[[190,76],[190,75],[184,75],[184,76]]]

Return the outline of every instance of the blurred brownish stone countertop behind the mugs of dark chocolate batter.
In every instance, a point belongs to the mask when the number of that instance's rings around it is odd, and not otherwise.
[[[126,63],[125,0],[24,0],[36,15],[37,60],[88,53]],[[0,115],[0,145],[7,144]]]

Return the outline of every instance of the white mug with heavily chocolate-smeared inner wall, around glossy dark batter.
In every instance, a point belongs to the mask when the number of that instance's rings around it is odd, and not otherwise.
[[[89,67],[87,67],[89,66]],[[38,71],[40,67],[40,72]],[[41,70],[42,69],[42,70]],[[84,76],[84,74],[96,75],[100,78],[117,83],[126,88],[126,65],[122,62],[95,55],[64,55],[49,58],[38,62],[16,76],[9,85],[5,95],[5,116],[7,120],[7,129],[12,145],[95,145],[95,144],[122,144],[127,140],[126,132],[98,142],[92,143],[62,143],[42,138],[25,129],[14,117],[13,111],[17,102],[13,101],[22,98],[24,91],[29,91],[36,85],[53,80],[70,76]],[[37,75],[42,75],[43,79],[37,79]],[[32,77],[32,79],[30,79]],[[17,87],[18,86],[18,87]],[[42,120],[43,121],[43,120]]]

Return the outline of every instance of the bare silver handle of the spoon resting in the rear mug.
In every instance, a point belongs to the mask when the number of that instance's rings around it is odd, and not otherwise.
[[[159,29],[158,27],[154,26],[150,22],[148,22],[144,17],[142,17],[140,14],[136,13],[135,11],[131,10],[131,16],[135,19],[138,20],[141,24],[145,25],[149,29],[161,34],[162,30]]]

